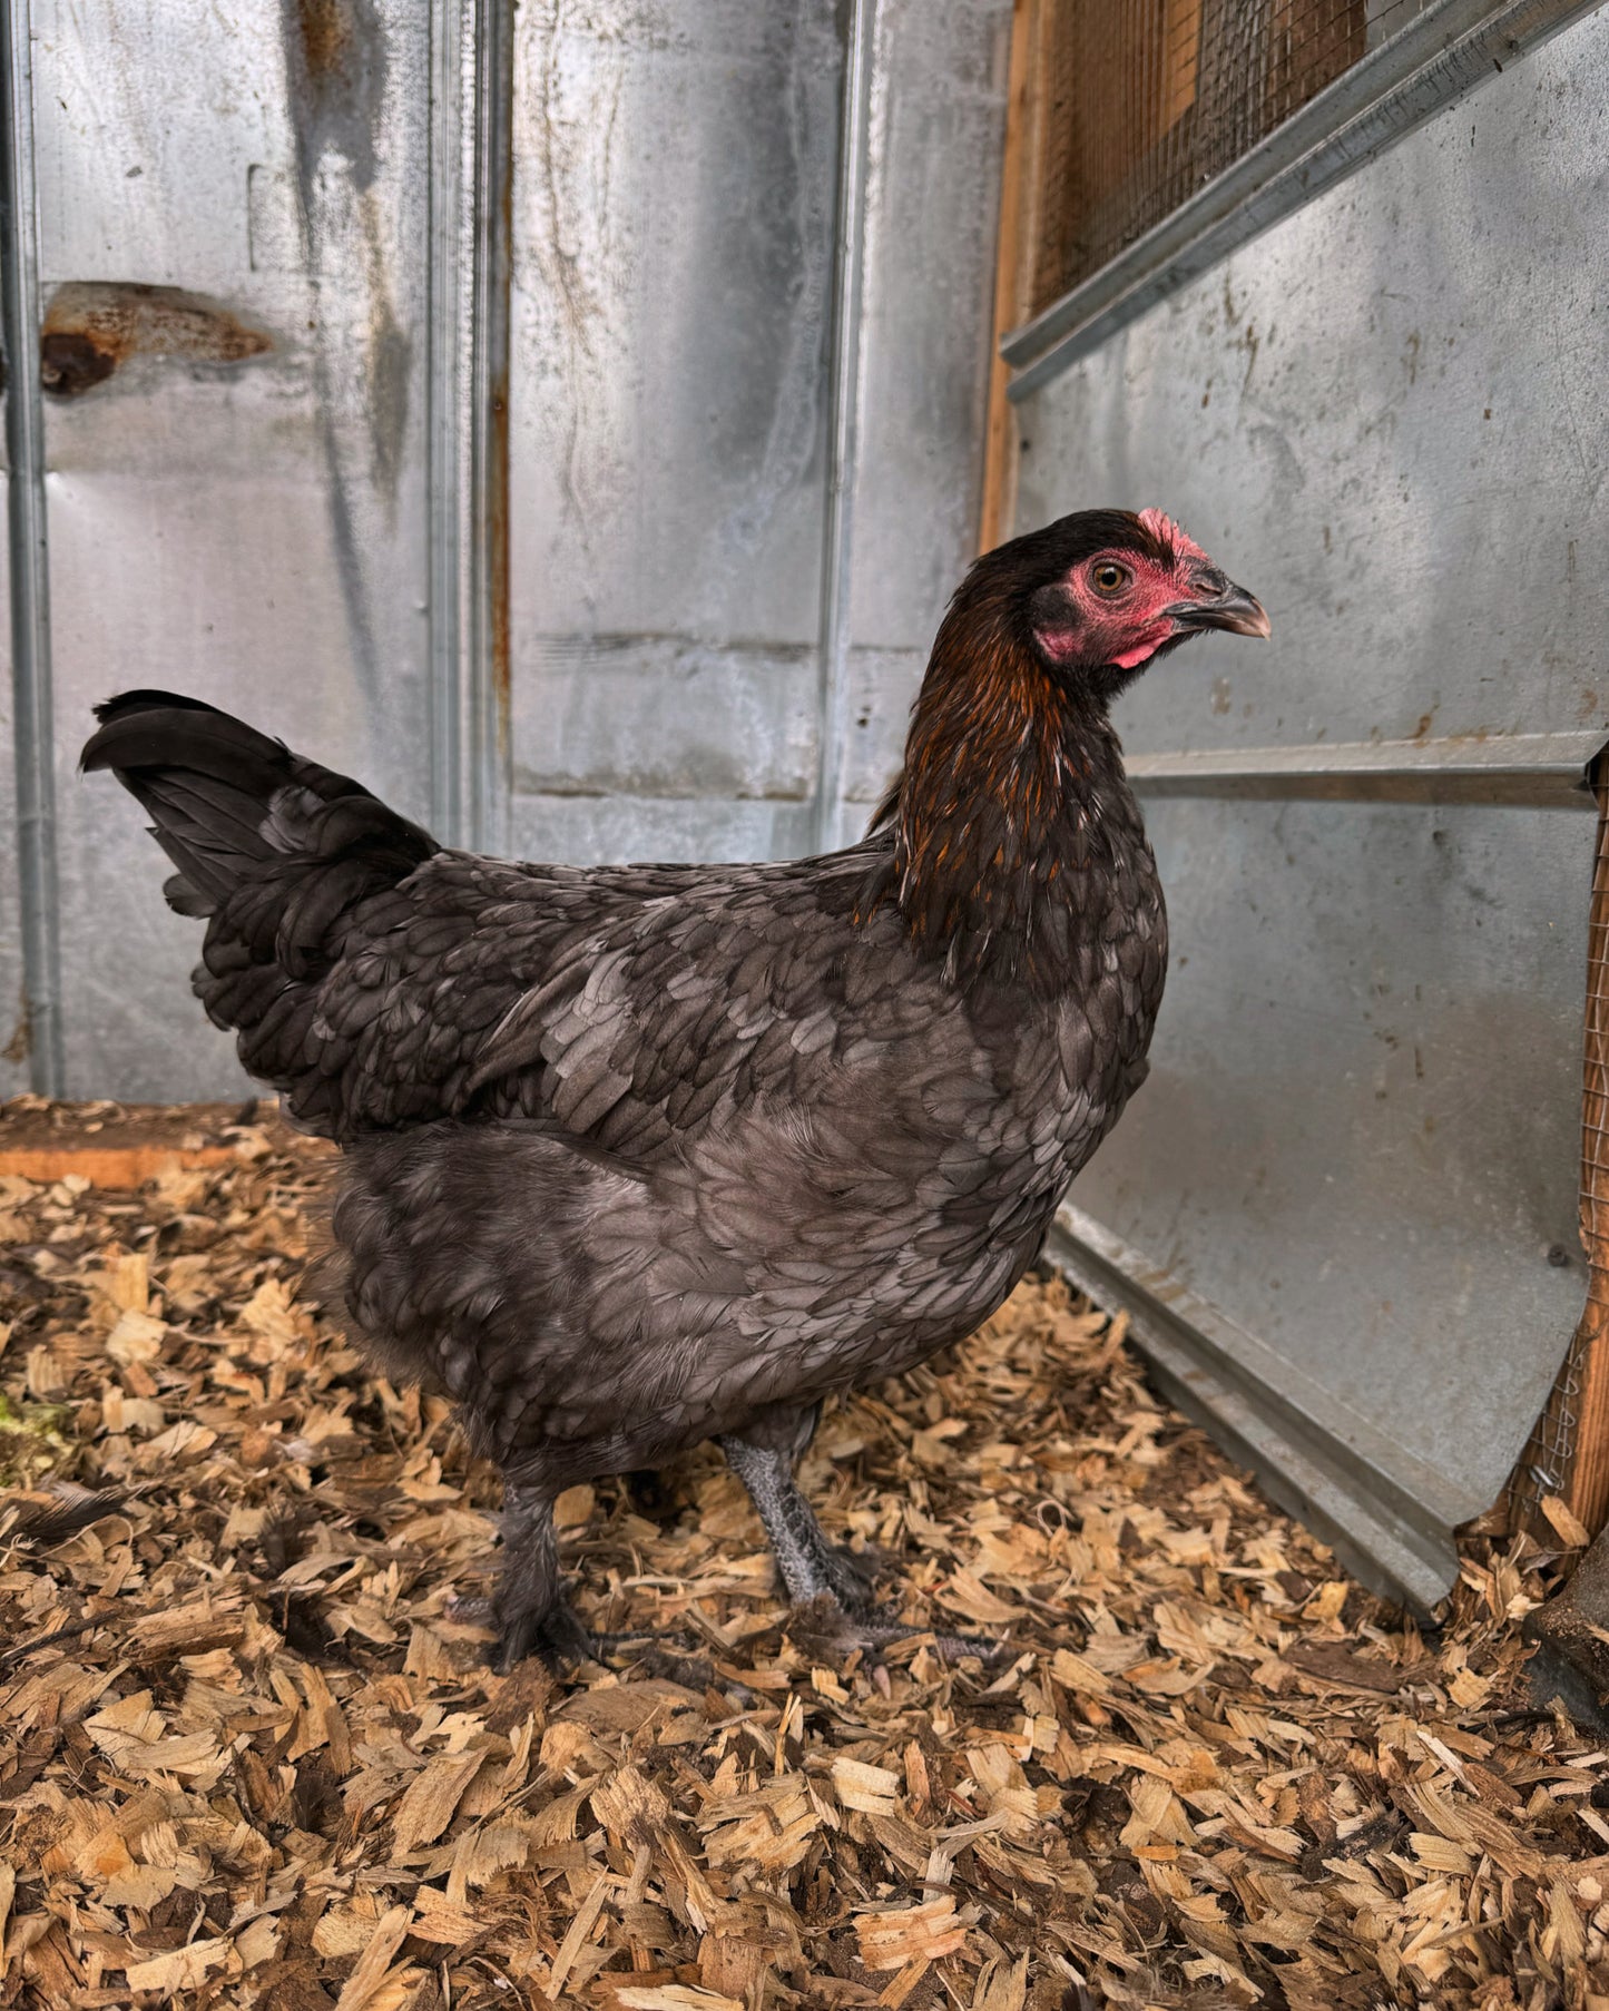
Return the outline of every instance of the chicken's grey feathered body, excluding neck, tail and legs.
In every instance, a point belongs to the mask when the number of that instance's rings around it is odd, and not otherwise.
[[[503,1114],[348,1150],[358,1325],[511,1474],[654,1464],[959,1339],[1138,1080],[1148,855],[1088,983],[1048,1001],[945,983],[893,915],[853,921],[865,857],[813,865],[706,869],[589,931],[533,921],[545,981],[465,1088],[501,1086]],[[517,935],[511,903],[493,919]]]

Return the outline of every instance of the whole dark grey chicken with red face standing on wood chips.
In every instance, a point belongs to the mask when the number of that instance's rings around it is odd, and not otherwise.
[[[897,1631],[792,1468],[1006,1299],[1144,1078],[1167,925],[1108,706],[1209,627],[1269,633],[1158,511],[988,553],[871,835],[774,865],[481,859],[197,700],[99,708],[203,1006],[344,1148],[356,1329],[503,1470],[501,1665],[587,1647],[553,1498],[706,1438],[788,1595]]]

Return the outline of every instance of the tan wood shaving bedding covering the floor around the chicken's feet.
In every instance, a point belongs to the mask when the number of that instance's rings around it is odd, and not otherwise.
[[[1523,1691],[1529,1538],[1422,1635],[1038,1279],[804,1460],[883,1665],[706,1450],[559,1504],[640,1643],[493,1677],[495,1474],[298,1295],[328,1148],[205,1144],[0,1174],[0,2003],[1609,2011],[1609,1754]]]

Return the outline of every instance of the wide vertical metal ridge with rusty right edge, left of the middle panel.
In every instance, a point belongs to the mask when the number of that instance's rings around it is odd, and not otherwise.
[[[509,804],[509,276],[513,18],[432,0],[430,814],[499,849]]]

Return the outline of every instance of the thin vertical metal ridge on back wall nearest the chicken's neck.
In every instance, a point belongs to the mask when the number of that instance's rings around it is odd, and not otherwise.
[[[851,0],[833,213],[833,320],[827,380],[827,513],[821,553],[821,682],[817,714],[815,845],[839,841],[845,720],[849,712],[849,575],[861,404],[861,294],[865,284],[867,161],[877,0]]]

